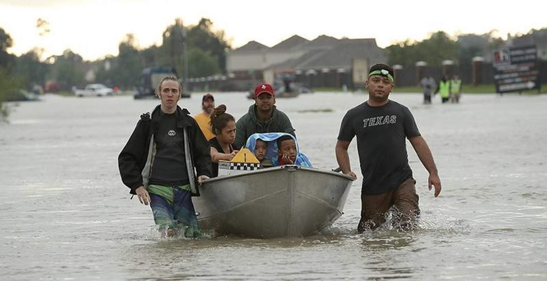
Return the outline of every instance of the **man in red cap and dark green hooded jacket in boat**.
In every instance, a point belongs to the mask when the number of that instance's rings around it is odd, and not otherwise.
[[[236,123],[234,146],[245,146],[247,138],[254,133],[278,132],[296,136],[287,114],[275,106],[274,88],[268,83],[260,83],[254,88],[254,104]]]

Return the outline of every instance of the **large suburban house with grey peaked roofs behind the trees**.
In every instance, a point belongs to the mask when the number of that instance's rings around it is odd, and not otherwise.
[[[262,81],[278,83],[283,77],[311,88],[354,88],[358,86],[354,84],[362,83],[366,68],[386,60],[385,51],[374,38],[322,35],[309,41],[294,35],[273,47],[251,41],[229,51],[226,70],[235,87],[242,90]]]

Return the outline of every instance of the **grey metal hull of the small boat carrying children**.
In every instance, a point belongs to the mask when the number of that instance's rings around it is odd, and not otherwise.
[[[193,201],[206,231],[310,236],[342,215],[351,181],[331,171],[284,165],[205,181]]]

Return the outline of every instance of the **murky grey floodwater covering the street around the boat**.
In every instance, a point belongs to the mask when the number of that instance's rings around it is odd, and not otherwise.
[[[251,104],[245,95],[215,97],[238,118]],[[356,234],[360,177],[333,227],[280,239],[159,237],[117,165],[157,101],[46,95],[14,105],[0,124],[0,279],[547,279],[547,95],[464,95],[458,105],[391,98],[414,113],[443,182],[434,198],[409,144],[418,230]],[[341,118],[365,99],[318,93],[277,106],[311,162],[331,169]],[[194,94],[179,104],[198,113],[200,102]],[[350,157],[360,176],[355,142]]]

